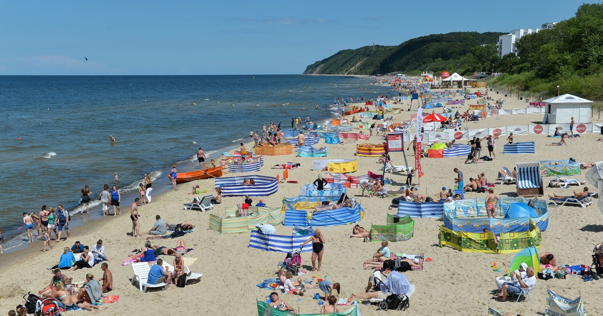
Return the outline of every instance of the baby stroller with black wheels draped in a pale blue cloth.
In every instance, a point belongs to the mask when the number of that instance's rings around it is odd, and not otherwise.
[[[382,292],[387,291],[388,293],[391,293],[390,296],[377,303],[380,311],[387,311],[388,309],[406,311],[410,306],[406,294],[411,291],[411,285],[408,283],[408,279],[406,279],[404,274],[397,271],[391,271],[390,276],[385,279],[385,282],[377,278],[376,282],[379,283]]]

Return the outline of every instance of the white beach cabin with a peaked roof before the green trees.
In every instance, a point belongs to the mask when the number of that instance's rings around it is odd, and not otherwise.
[[[593,101],[563,94],[544,102],[547,124],[570,123],[572,117],[575,123],[590,123]]]

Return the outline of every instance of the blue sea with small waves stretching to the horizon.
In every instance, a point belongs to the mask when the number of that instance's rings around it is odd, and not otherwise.
[[[391,93],[372,81],[314,75],[0,76],[4,251],[27,244],[24,211],[37,214],[42,205],[62,204],[72,214],[71,228],[93,225],[102,218],[98,194],[118,173],[127,214],[145,173],[153,181],[152,195],[169,190],[171,165],[178,172],[198,169],[198,147],[219,158],[270,120],[290,128],[292,117],[309,115],[320,124],[337,115],[337,98]],[[86,184],[90,213],[80,215]]]

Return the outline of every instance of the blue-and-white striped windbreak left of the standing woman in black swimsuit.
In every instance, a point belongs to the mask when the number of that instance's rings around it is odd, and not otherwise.
[[[304,241],[314,235],[267,235],[259,231],[251,231],[249,247],[270,252],[294,252]],[[301,252],[311,252],[312,243],[305,244]]]

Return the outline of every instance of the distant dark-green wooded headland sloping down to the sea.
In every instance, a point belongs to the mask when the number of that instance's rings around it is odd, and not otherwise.
[[[499,62],[496,45],[505,33],[454,32],[431,34],[398,46],[364,46],[339,51],[306,68],[305,74],[376,75],[420,73],[421,70],[461,73],[488,71]],[[485,45],[485,46],[481,46]]]

